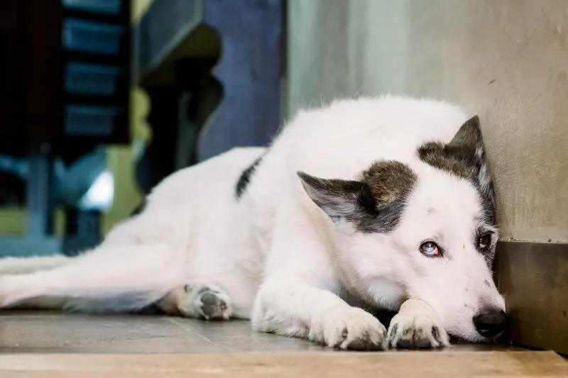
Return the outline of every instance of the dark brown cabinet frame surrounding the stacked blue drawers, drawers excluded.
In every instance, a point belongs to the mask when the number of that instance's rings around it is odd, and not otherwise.
[[[4,0],[2,7],[0,153],[23,156],[49,150],[70,162],[99,143],[128,143],[130,1],[122,0],[117,14],[67,9],[61,0]],[[119,52],[101,55],[65,48],[63,28],[70,18],[124,28]],[[73,61],[119,67],[121,74],[114,94],[66,92],[65,67]],[[68,104],[116,106],[121,111],[109,135],[70,134],[64,128]]]

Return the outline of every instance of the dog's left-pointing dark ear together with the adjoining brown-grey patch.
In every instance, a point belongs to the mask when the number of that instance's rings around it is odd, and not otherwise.
[[[345,219],[362,233],[388,233],[400,222],[417,177],[408,165],[376,162],[359,180],[321,179],[297,172],[312,201],[337,222]]]

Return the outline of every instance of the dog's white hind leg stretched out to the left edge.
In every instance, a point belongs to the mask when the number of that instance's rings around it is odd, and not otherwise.
[[[0,277],[0,308],[53,298],[74,311],[133,311],[178,287],[182,266],[168,245],[96,248],[54,269]]]

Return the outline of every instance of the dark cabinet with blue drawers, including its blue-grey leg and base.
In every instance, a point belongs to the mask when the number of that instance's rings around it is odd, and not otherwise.
[[[130,50],[129,0],[2,2],[0,154],[29,174],[26,236],[1,238],[0,255],[60,252],[53,159],[129,143]],[[11,172],[0,174],[6,186]]]

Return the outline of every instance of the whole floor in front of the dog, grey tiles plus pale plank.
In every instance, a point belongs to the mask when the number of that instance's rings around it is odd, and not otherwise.
[[[554,352],[455,345],[337,352],[251,331],[241,321],[162,316],[0,316],[0,378],[568,377]]]

